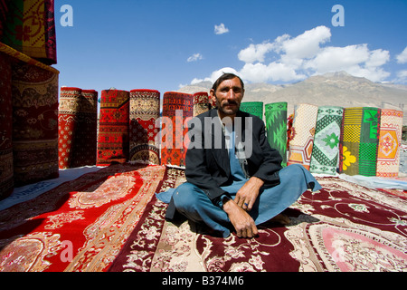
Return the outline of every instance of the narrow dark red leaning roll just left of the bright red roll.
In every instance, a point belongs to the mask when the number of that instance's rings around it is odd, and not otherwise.
[[[71,167],[96,164],[98,136],[98,92],[81,90],[78,125],[73,142]]]

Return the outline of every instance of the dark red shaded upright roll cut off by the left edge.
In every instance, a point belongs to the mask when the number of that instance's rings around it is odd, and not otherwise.
[[[14,189],[11,58],[0,53],[0,199]]]

